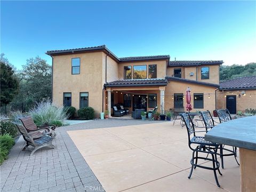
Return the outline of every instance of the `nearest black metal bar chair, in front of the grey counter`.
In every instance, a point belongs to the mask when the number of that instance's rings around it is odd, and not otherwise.
[[[189,179],[191,178],[193,169],[196,169],[196,167],[200,167],[202,169],[207,169],[207,170],[212,170],[214,173],[214,178],[217,183],[217,186],[220,187],[220,184],[219,184],[219,181],[217,178],[217,173],[216,173],[216,171],[218,170],[219,174],[222,175],[219,170],[220,163],[217,161],[217,151],[218,151],[219,145],[217,143],[206,141],[204,139],[204,137],[196,135],[198,132],[206,132],[206,131],[195,131],[195,125],[188,113],[182,114],[181,117],[182,117],[183,121],[185,122],[185,126],[187,127],[188,146],[191,150],[193,150],[192,158],[190,160],[191,169],[190,169],[188,178]],[[202,154],[202,155],[210,154],[212,156],[212,158],[198,156],[198,154]],[[211,161],[212,167],[197,164],[198,159],[204,159],[207,161]]]

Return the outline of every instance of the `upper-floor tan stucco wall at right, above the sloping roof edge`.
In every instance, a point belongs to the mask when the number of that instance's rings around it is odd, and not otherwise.
[[[201,67],[209,67],[210,78],[201,79]],[[181,68],[181,78],[186,78],[196,81],[196,67],[168,67],[167,76],[172,76],[174,69]],[[189,73],[193,72],[194,76],[189,76]],[[219,66],[218,65],[205,65],[197,67],[197,81],[219,84]]]

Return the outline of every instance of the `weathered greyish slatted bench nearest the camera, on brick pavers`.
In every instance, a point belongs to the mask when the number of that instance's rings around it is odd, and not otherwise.
[[[36,150],[41,149],[43,147],[54,148],[54,145],[52,145],[52,140],[56,137],[56,133],[54,131],[44,132],[42,133],[43,136],[41,138],[35,139],[31,135],[31,133],[37,133],[46,128],[42,128],[41,130],[30,131],[28,133],[24,126],[18,124],[16,125],[18,127],[18,130],[22,134],[23,139],[27,142],[27,145],[23,147],[22,150],[30,150],[30,156],[32,156]],[[32,148],[30,148],[29,146],[31,146]]]

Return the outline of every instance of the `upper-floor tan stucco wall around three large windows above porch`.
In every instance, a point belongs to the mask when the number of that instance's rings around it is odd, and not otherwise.
[[[132,78],[133,78],[133,66],[147,65],[147,78],[148,78],[148,65],[157,65],[157,78],[165,78],[166,76],[166,61],[134,61],[134,62],[122,62],[118,64],[118,78],[124,79],[124,66],[132,66]]]

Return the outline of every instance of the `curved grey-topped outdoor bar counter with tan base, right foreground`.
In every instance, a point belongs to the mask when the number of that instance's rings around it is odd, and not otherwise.
[[[256,191],[256,116],[221,123],[205,140],[239,147],[241,191]]]

